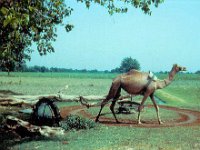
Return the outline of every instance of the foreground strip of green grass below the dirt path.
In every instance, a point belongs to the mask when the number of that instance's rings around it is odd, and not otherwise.
[[[25,142],[15,145],[13,149],[42,150],[48,147],[49,150],[198,150],[199,143],[199,127],[144,129],[99,126],[90,130],[71,131],[59,139]]]

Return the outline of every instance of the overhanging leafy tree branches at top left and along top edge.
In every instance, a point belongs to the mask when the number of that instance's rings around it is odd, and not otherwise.
[[[105,7],[109,14],[126,13],[128,5],[140,8],[151,15],[150,7],[163,0],[77,0],[90,7],[92,3]],[[70,16],[72,8],[65,0],[0,0],[0,61],[21,63],[30,59],[36,44],[40,55],[54,52],[52,42],[56,40],[57,25]],[[65,24],[66,31],[73,25]],[[15,63],[16,64],[16,63]]]

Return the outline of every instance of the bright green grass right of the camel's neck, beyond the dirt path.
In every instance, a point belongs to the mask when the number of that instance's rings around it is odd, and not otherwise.
[[[180,74],[171,85],[158,90],[156,95],[168,105],[200,111],[200,75]]]

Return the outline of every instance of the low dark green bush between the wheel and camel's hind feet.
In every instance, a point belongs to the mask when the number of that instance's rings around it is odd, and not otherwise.
[[[94,128],[96,123],[93,120],[82,118],[77,115],[69,115],[61,121],[61,127],[65,130],[80,130]]]

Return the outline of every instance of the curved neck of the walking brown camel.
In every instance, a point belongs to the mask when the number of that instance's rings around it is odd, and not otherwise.
[[[168,86],[173,81],[175,75],[176,71],[172,68],[167,79],[157,81],[157,89],[162,89]]]

